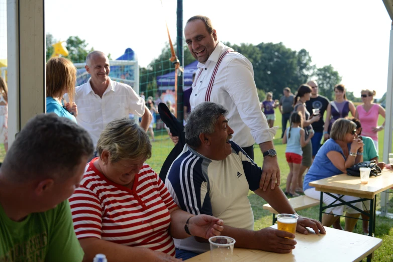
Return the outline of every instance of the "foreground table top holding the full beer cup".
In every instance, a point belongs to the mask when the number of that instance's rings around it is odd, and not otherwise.
[[[271,227],[277,228],[277,225]],[[325,227],[326,235],[317,235],[309,230],[308,235],[296,232],[296,248],[287,254],[278,254],[255,249],[234,248],[233,262],[251,261],[359,261],[382,244],[382,239]],[[187,262],[210,262],[210,251],[197,255]]]

